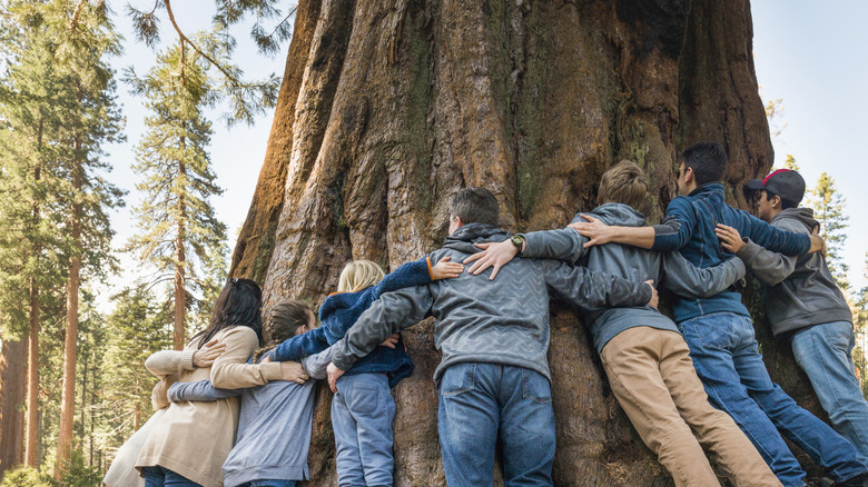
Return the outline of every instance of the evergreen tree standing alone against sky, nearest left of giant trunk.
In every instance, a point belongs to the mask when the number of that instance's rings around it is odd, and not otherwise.
[[[207,39],[199,37],[201,43]],[[145,119],[147,132],[136,148],[134,170],[142,178],[136,188],[145,198],[135,209],[140,232],[131,239],[130,249],[157,268],[152,284],[172,281],[176,350],[186,341],[187,310],[200,307],[215,286],[223,285],[228,252],[226,226],[217,220],[209,201],[223,189],[216,185],[207,151],[211,125],[204,109],[213,107],[219,95],[208,78],[208,67],[181,40],[160,53],[146,76],[137,78],[130,70],[127,77],[151,111]],[[219,272],[217,282],[208,270]]]

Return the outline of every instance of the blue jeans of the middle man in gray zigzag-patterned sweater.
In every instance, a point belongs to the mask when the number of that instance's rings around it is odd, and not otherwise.
[[[456,364],[440,382],[440,449],[450,486],[490,486],[497,438],[506,487],[551,486],[554,413],[549,380],[530,369]]]

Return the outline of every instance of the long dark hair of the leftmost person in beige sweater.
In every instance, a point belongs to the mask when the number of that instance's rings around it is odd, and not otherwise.
[[[199,339],[198,348],[210,341],[217,332],[235,326],[244,326],[256,331],[259,342],[263,341],[263,317],[259,307],[263,302],[263,291],[250,279],[233,278],[223,287],[220,296],[214,301],[211,321],[208,328],[199,331],[193,340]]]

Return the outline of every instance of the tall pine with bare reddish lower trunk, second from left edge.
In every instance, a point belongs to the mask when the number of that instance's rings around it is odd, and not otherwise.
[[[59,129],[58,138],[51,142],[57,150],[57,168],[66,182],[58,195],[68,262],[63,387],[55,470],[56,478],[60,478],[58,467],[66,464],[72,448],[82,271],[87,277],[99,278],[112,269],[107,209],[122,203],[122,191],[101,176],[110,170],[101,160],[103,145],[121,138],[115,72],[106,59],[119,53],[120,48],[105,2],[16,2],[13,10],[17,19],[50,47],[51,71],[58,81],[52,87],[52,107]]]

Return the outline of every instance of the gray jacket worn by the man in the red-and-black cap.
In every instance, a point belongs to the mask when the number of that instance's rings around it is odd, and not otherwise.
[[[771,225],[810,233],[817,220],[811,209],[789,208],[776,215]],[[776,337],[825,322],[852,322],[850,307],[820,252],[787,257],[744,240],[748,245],[739,257],[766,286],[766,312]]]

